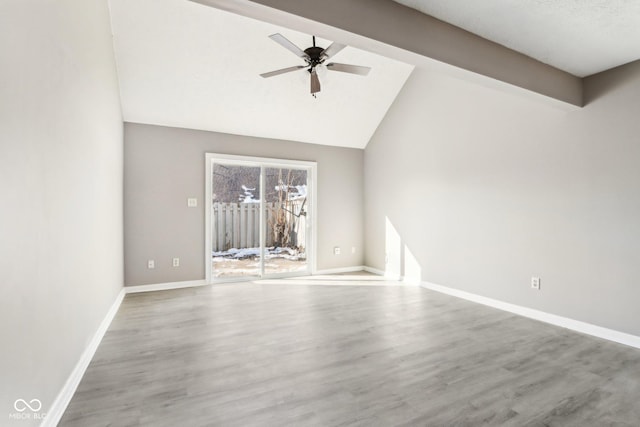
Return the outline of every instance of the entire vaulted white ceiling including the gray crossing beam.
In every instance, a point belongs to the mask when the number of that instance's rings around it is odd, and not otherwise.
[[[561,108],[582,77],[640,59],[629,0],[109,0],[125,121],[364,148],[414,66]],[[309,94],[302,49],[347,44]]]

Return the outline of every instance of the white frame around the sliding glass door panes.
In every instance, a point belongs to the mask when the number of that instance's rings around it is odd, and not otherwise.
[[[317,271],[317,245],[318,245],[318,227],[317,227],[317,203],[316,203],[316,193],[317,193],[317,182],[318,182],[318,164],[316,162],[302,161],[302,160],[285,160],[285,159],[273,159],[269,157],[249,157],[249,156],[236,156],[230,154],[218,154],[218,153],[206,153],[205,154],[205,271],[206,271],[206,281],[208,284],[211,283],[222,283],[222,282],[233,282],[233,281],[246,281],[247,277],[232,277],[232,278],[222,278],[222,279],[214,279],[211,271],[211,233],[213,231],[213,226],[211,224],[211,203],[213,200],[211,199],[212,195],[212,180],[213,180],[213,163],[215,161],[219,161],[220,163],[224,163],[226,165],[238,165],[238,166],[254,166],[254,167],[271,167],[271,168],[295,168],[295,169],[306,169],[307,170],[307,212],[309,212],[309,216],[307,217],[307,231],[311,228],[311,233],[306,233],[307,235],[307,271],[293,272],[293,273],[282,273],[282,274],[270,274],[267,277],[264,277],[264,262],[261,263],[262,269],[260,271],[261,277],[264,278],[278,278],[278,277],[293,277],[293,276],[304,276],[309,274],[316,274]],[[264,206],[264,176],[260,174],[260,202],[261,206]],[[309,221],[309,219],[311,219]],[[260,246],[264,247],[264,238],[265,238],[265,218],[264,215],[260,215]]]

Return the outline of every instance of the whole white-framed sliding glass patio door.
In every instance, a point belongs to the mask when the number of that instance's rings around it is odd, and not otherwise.
[[[207,154],[209,282],[311,273],[315,163]]]

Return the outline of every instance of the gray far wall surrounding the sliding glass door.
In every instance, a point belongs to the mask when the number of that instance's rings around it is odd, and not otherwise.
[[[207,152],[317,162],[318,269],[362,265],[363,150],[133,123],[124,141],[126,285],[204,279]]]

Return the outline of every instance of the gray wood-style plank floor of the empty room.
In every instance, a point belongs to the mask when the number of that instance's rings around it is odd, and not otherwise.
[[[339,279],[128,295],[60,426],[640,426],[640,350]]]

